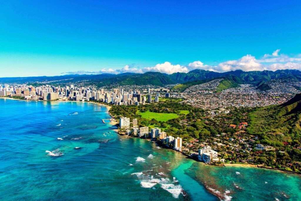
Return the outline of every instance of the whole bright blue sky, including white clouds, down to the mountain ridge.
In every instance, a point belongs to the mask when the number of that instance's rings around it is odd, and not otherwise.
[[[300,11],[300,1],[275,0],[10,0],[0,77],[301,69]]]

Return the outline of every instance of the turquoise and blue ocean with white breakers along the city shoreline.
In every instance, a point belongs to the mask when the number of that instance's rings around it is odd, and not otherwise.
[[[233,200],[301,200],[298,176],[205,167],[119,136],[106,107],[0,99],[0,116],[0,200],[218,200],[210,182]]]

